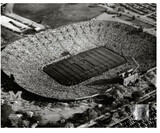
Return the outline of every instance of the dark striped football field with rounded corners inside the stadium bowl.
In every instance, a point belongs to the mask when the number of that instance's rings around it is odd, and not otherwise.
[[[52,63],[43,71],[66,86],[75,85],[126,62],[125,58],[104,47],[94,48]]]

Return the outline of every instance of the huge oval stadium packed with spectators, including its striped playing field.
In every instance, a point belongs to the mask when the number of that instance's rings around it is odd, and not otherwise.
[[[156,37],[129,25],[89,20],[47,29],[17,40],[1,53],[2,70],[25,90],[56,99],[103,91],[86,84],[133,68],[156,66]]]

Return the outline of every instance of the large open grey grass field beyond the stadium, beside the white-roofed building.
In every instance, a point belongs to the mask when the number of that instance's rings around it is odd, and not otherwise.
[[[14,13],[53,28],[85,21],[101,14],[103,7],[88,7],[90,4],[15,4]]]

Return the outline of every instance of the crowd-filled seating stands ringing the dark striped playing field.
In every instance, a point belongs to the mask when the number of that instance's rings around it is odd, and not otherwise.
[[[70,86],[58,83],[43,71],[49,64],[99,47],[115,52],[126,62],[123,61],[120,66],[86,78],[83,82],[69,84]],[[38,95],[56,99],[82,98],[103,91],[102,87],[86,84],[134,68],[130,63],[131,57],[140,64],[140,71],[155,67],[156,37],[119,22],[96,20],[28,35],[8,45],[1,55],[2,70],[8,76],[13,75],[15,82],[21,87]]]

